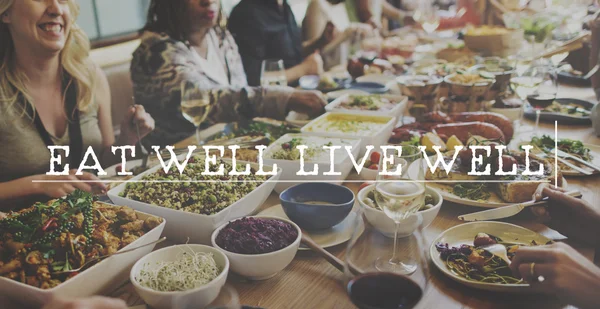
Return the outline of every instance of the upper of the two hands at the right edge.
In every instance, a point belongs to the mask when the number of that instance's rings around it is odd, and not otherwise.
[[[548,184],[541,184],[533,196],[536,201],[543,197],[548,197],[546,207],[534,206],[531,211],[544,224],[569,238],[600,245],[600,209]]]

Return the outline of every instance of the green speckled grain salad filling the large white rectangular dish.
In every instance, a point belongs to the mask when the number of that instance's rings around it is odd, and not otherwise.
[[[217,159],[216,164],[210,166],[210,171],[216,172],[220,164],[223,164],[225,171],[232,170],[231,163]],[[243,171],[244,165],[237,163],[236,170]],[[255,170],[245,176],[229,176],[227,172],[223,176],[202,175],[204,171],[205,158],[194,155],[189,159],[183,174],[179,173],[175,165],[171,166],[168,173],[159,169],[142,177],[141,180],[149,182],[127,183],[119,195],[156,206],[213,215],[237,202],[268,179],[266,176],[256,175]],[[165,180],[177,182],[164,182]]]

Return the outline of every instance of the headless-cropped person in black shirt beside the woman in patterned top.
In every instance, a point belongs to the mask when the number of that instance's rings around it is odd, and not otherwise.
[[[330,28],[303,42],[300,27],[287,0],[242,0],[231,11],[229,31],[242,56],[248,84],[260,84],[263,60],[281,59],[288,84],[304,75],[321,75],[323,59],[319,50],[334,37]]]

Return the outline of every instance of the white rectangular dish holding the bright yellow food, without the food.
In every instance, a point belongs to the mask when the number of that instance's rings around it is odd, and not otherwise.
[[[318,128],[315,128],[319,124],[323,122],[327,122],[330,117],[344,117],[349,120],[355,121],[378,121],[381,122],[381,126],[378,128],[371,130],[370,132],[365,133],[332,133],[322,131]],[[390,136],[392,136],[392,130],[394,129],[394,124],[396,124],[396,118],[392,116],[366,116],[366,115],[356,115],[356,114],[347,114],[347,113],[325,113],[319,116],[317,119],[311,121],[306,126],[304,126],[301,131],[310,134],[316,134],[321,136],[331,136],[331,137],[341,137],[341,138],[360,138],[360,152],[359,156],[364,156],[366,153],[366,146],[373,145],[375,149],[379,148],[381,145],[386,145]]]

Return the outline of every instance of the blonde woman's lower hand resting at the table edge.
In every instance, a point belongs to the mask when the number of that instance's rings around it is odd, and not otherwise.
[[[93,174],[83,172],[82,175],[75,175],[77,170],[70,170],[67,176],[39,175],[32,176],[33,180],[52,180],[52,182],[34,182],[34,192],[43,194],[51,198],[61,198],[73,193],[76,189],[93,192],[94,189],[106,192],[106,186],[99,181]],[[59,182],[63,180],[65,182]]]

